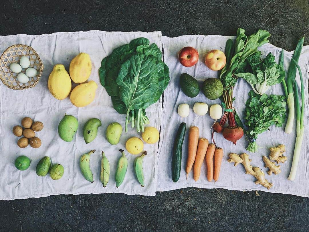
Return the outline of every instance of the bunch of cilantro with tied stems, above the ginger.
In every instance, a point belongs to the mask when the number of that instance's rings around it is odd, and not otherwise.
[[[252,90],[249,92],[249,99],[245,108],[245,125],[248,127],[246,131],[250,141],[247,150],[256,152],[257,135],[267,131],[272,125],[282,127],[282,123],[286,118],[286,101],[281,95],[257,94]]]

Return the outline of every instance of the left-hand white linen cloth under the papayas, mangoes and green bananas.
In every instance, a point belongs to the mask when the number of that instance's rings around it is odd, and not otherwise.
[[[135,155],[128,157],[128,170],[124,182],[116,188],[115,171],[117,161],[121,157],[119,149],[125,150],[125,141],[132,137],[141,137],[136,128],[129,127],[129,132],[123,131],[121,140],[117,145],[111,145],[105,138],[105,130],[109,123],[119,122],[124,127],[125,115],[118,114],[112,107],[111,98],[105,88],[99,82],[98,70],[101,60],[109,55],[112,50],[120,45],[127,44],[134,38],[146,37],[150,43],[156,43],[162,49],[160,42],[161,32],[70,32],[53,33],[50,35],[14,35],[1,36],[1,54],[13,44],[26,44],[31,46],[40,55],[44,64],[43,74],[35,87],[26,90],[12,90],[0,83],[0,109],[1,127],[0,133],[0,199],[24,199],[29,197],[44,197],[57,194],[86,194],[120,192],[126,194],[155,195],[156,176],[155,167],[157,161],[157,144],[145,144],[147,156],[144,158],[145,187],[136,180],[133,172],[133,160]],[[56,100],[49,92],[47,81],[55,64],[63,64],[69,71],[69,65],[78,53],[90,54],[92,61],[92,73],[89,80],[98,84],[95,100],[88,106],[77,108],[70,102],[70,98],[62,101]],[[146,114],[150,119],[150,125],[160,127],[162,107],[161,101],[151,105]],[[78,119],[78,131],[74,140],[67,143],[58,135],[57,127],[64,114],[72,114]],[[34,121],[44,124],[42,131],[36,132],[36,136],[42,140],[40,148],[19,148],[16,137],[12,133],[15,125],[20,125],[23,117],[30,117]],[[102,127],[98,129],[97,138],[89,144],[83,139],[84,123],[90,118],[99,118]],[[79,170],[79,159],[84,153],[96,149],[91,154],[90,167],[94,176],[94,183],[88,182]],[[105,152],[110,163],[110,179],[104,188],[99,180],[101,150]],[[28,170],[19,171],[14,166],[14,160],[19,155],[26,155],[31,159]],[[36,164],[44,157],[49,156],[52,163],[60,163],[65,172],[60,180],[52,180],[48,175],[39,177],[36,175]],[[18,185],[19,184],[19,185]],[[18,187],[16,187],[18,185]],[[16,187],[16,188],[15,188]]]

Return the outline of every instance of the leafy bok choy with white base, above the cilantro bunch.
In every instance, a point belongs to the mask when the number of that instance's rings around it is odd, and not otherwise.
[[[285,78],[284,69],[275,62],[273,54],[269,53],[264,60],[260,60],[261,52],[247,58],[252,71],[235,74],[247,81],[253,91],[257,94],[264,94],[271,85],[279,84]]]

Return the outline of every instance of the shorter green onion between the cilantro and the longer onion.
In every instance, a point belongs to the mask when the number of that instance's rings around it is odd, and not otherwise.
[[[295,63],[297,64],[300,53],[302,51],[303,48],[303,43],[304,43],[304,39],[305,37],[301,38],[298,41],[298,44],[296,46],[296,49],[294,51],[293,54],[293,58]],[[296,77],[296,65],[294,62],[290,63],[289,69],[288,69],[288,75],[287,75],[287,93],[288,93],[288,97],[287,97],[287,105],[289,108],[289,114],[288,114],[288,119],[286,121],[286,127],[285,127],[285,132],[290,134],[292,132],[293,129],[293,123],[294,123],[294,114],[295,114],[295,106],[294,106],[294,91],[293,91],[293,86],[294,86],[294,82],[295,82],[295,77]],[[283,81],[283,83],[285,83],[285,81]],[[283,84],[284,85],[284,84]],[[298,98],[298,96],[297,96]]]

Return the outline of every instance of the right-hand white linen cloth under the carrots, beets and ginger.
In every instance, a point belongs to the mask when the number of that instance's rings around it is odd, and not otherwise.
[[[308,66],[309,66],[309,46],[305,46],[302,49],[302,53],[299,58],[299,66],[302,69],[303,79],[305,83],[305,115],[304,115],[304,139],[301,149],[301,156],[299,159],[298,170],[294,183],[289,181],[288,175],[290,172],[290,167],[292,163],[292,156],[295,143],[295,124],[293,132],[291,134],[286,134],[284,132],[284,126],[276,128],[275,126],[270,127],[270,131],[266,131],[263,134],[258,135],[256,140],[260,148],[256,153],[249,153],[246,151],[248,146],[248,141],[246,137],[243,136],[242,139],[237,141],[234,146],[231,142],[225,140],[222,134],[215,133],[214,139],[219,147],[224,150],[224,156],[222,160],[222,166],[220,171],[220,177],[215,183],[214,181],[208,182],[205,173],[205,165],[202,166],[200,179],[195,182],[193,179],[193,171],[188,176],[188,181],[186,180],[185,167],[187,161],[187,142],[188,142],[188,127],[195,125],[199,127],[200,137],[205,137],[209,141],[211,139],[210,127],[214,120],[210,118],[209,113],[205,116],[197,117],[193,112],[193,105],[195,102],[201,101],[207,103],[209,106],[212,104],[220,104],[219,100],[209,100],[202,92],[195,98],[187,97],[181,90],[179,85],[179,77],[183,72],[186,72],[194,76],[197,80],[203,81],[209,77],[218,77],[218,72],[211,71],[204,64],[205,54],[208,50],[219,49],[224,51],[226,40],[235,37],[217,36],[217,35],[186,35],[176,38],[161,37],[163,42],[164,50],[164,62],[170,69],[171,82],[168,85],[166,91],[164,92],[164,103],[163,103],[163,118],[161,120],[161,139],[163,141],[159,146],[159,165],[158,165],[158,188],[157,191],[168,191],[171,189],[179,189],[184,187],[199,187],[199,188],[225,188],[229,190],[259,190],[268,191],[274,193],[285,193],[293,194],[299,196],[309,197],[309,184],[308,184],[308,173],[309,173],[309,156],[308,156]],[[177,52],[185,47],[192,46],[195,47],[199,52],[199,61],[194,67],[184,67],[180,64],[177,59]],[[271,52],[275,57],[276,61],[279,59],[281,49],[277,48],[271,44],[265,44],[261,48],[262,54],[266,56]],[[284,51],[284,65],[287,71],[288,65],[290,63],[290,58],[293,52]],[[296,76],[298,84],[300,83],[298,74]],[[299,85],[300,86],[300,85]],[[239,79],[236,87],[234,89],[235,102],[233,106],[236,108],[237,113],[240,118],[243,118],[243,110],[245,108],[245,102],[248,99],[248,92],[251,90],[250,85],[243,79]],[[283,95],[283,89],[281,84],[271,86],[266,92],[267,94],[281,94]],[[177,107],[179,104],[186,103],[190,105],[190,114],[187,118],[180,118],[177,114]],[[295,115],[296,117],[296,115]],[[173,148],[173,142],[176,135],[176,131],[181,122],[187,124],[187,134],[185,136],[183,144],[183,156],[182,156],[182,170],[180,179],[177,183],[173,183],[171,180],[171,150]],[[278,175],[272,174],[269,176],[266,171],[268,169],[264,168],[264,162],[262,160],[262,155],[269,155],[269,148],[272,146],[277,146],[279,144],[284,144],[286,146],[285,156],[288,160],[281,165],[281,173]],[[273,187],[267,190],[261,185],[256,185],[254,181],[256,180],[253,176],[245,174],[244,167],[239,164],[234,167],[234,163],[228,163],[229,153],[248,153],[250,159],[252,159],[251,165],[258,166],[265,173],[266,179],[273,183]]]

